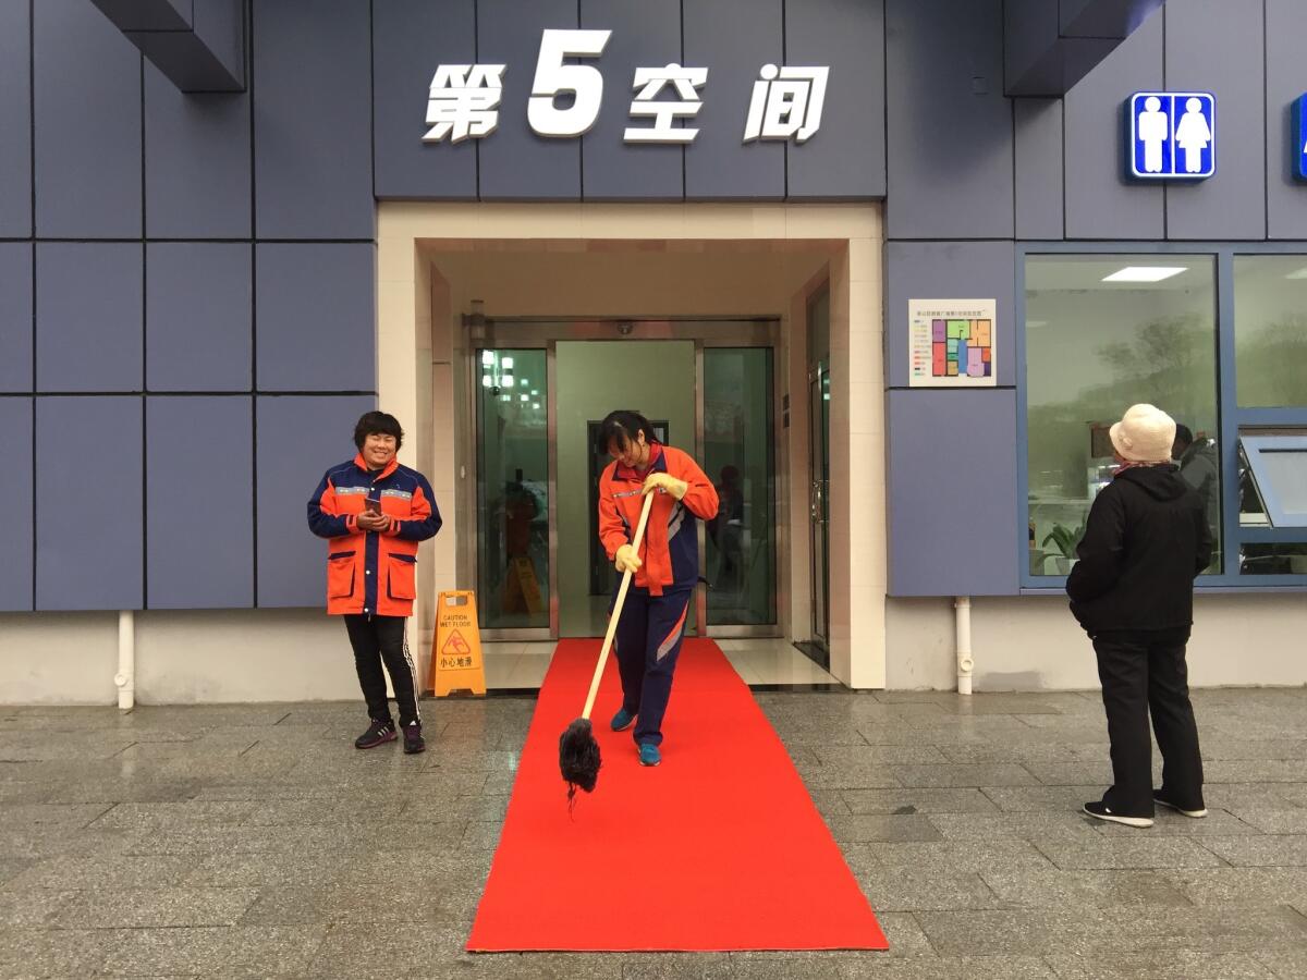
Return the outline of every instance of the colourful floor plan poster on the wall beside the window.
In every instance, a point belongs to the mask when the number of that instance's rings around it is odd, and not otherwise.
[[[910,299],[908,387],[993,388],[993,299]]]

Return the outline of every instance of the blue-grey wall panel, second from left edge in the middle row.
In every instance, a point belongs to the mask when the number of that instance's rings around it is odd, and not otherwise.
[[[37,391],[141,391],[142,261],[135,243],[37,243]]]

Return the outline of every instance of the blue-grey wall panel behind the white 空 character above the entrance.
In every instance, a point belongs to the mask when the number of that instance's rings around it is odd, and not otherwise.
[[[626,127],[648,128],[652,123],[647,116],[630,115],[635,69],[681,63],[680,0],[583,0],[580,26],[613,31],[604,48],[604,105],[595,128],[582,137],[584,196],[680,200],[685,192],[682,148],[622,140]],[[698,90],[701,99],[711,99],[714,76],[710,69],[707,84]],[[698,128],[699,122],[686,119],[681,125]],[[701,131],[697,139],[703,136]]]

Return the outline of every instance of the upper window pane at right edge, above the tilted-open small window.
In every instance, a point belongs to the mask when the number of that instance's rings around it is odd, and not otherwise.
[[[1240,408],[1307,405],[1307,255],[1234,260]]]

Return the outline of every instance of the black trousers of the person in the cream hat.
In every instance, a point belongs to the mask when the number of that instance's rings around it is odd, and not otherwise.
[[[1103,794],[1103,802],[1121,815],[1153,815],[1149,713],[1162,751],[1162,793],[1185,810],[1202,808],[1199,727],[1184,662],[1188,639],[1188,627],[1094,636],[1112,743],[1112,788]]]

